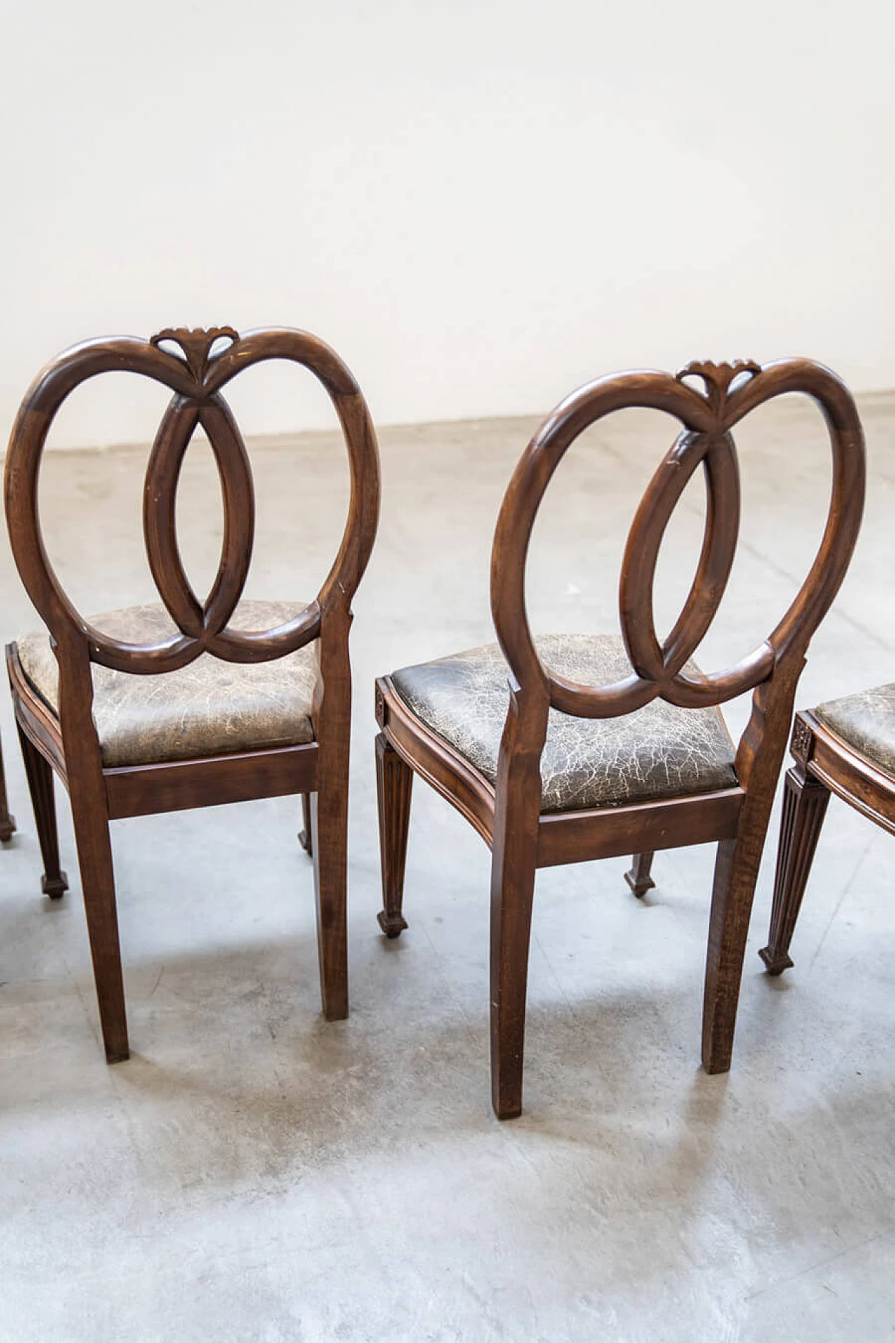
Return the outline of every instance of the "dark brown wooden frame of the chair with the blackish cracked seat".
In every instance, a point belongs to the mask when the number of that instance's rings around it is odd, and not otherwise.
[[[692,385],[699,380],[702,387]],[[829,430],[833,490],[814,563],[780,623],[735,666],[711,674],[683,667],[706,634],[723,595],[739,528],[739,475],[733,428],[757,406],[802,392],[820,407]],[[570,443],[602,416],[625,407],[666,411],[682,424],[635,514],[625,547],[619,607],[633,672],[611,686],[568,681],[543,666],[529,629],[525,568],[531,528],[550,478]],[[706,535],[696,575],[671,634],[660,643],[652,616],[659,547],[692,473],[707,482]],[[534,873],[539,866],[635,853],[628,874],[637,894],[652,885],[652,851],[718,842],[703,1009],[703,1065],[730,1066],[737,999],[758,862],[782,763],[793,697],[809,639],[848,568],[864,502],[864,441],[845,385],[809,360],[696,363],[676,376],[623,373],[574,392],[545,420],[506,492],[491,552],[491,611],[510,667],[509,709],[498,779],[492,787],[467,760],[428,729],[396,693],[377,682],[377,720],[385,745],[423,775],[492,849],[491,881],[491,1076],[499,1117],[522,1107],[525,994]],[[592,811],[541,814],[539,759],[549,708],[578,717],[631,713],[656,697],[684,708],[723,704],[753,692],[739,741],[739,786],[721,792],[621,804]],[[394,861],[388,792],[380,790],[389,912],[400,911],[403,864]],[[403,822],[405,827],[405,822]],[[404,841],[401,839],[401,843]],[[403,921],[403,916],[401,916]]]

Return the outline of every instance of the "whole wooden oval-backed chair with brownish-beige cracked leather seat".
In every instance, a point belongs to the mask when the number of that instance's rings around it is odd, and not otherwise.
[[[225,348],[212,353],[215,344]],[[350,463],[345,535],[309,604],[240,604],[252,552],[252,475],[221,392],[242,369],[271,359],[301,364],[323,384]],[[107,371],[141,373],[173,393],[144,489],[146,553],[164,604],[85,619],[44,551],[38,471],[64,399]],[[200,426],[224,501],[221,557],[204,602],[189,586],[174,530],[180,469]],[[149,342],[89,341],[47,365],[21,404],[7,455],[7,520],[19,573],[51,641],[31,635],[11,643],[7,663],[46,868],[43,889],[56,898],[67,882],[59,870],[54,770],[71,798],[110,1062],[129,1053],[109,841],[109,822],[118,817],[301,792],[314,855],[323,1013],[329,1019],[348,1014],[348,635],[378,498],[376,435],[364,396],[338,356],[305,332],[240,337],[225,326],[166,329]]]

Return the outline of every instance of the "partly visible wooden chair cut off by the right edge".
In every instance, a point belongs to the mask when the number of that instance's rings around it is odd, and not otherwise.
[[[792,966],[789,944],[831,792],[895,834],[895,684],[819,704],[796,714],[780,823],[769,974]]]

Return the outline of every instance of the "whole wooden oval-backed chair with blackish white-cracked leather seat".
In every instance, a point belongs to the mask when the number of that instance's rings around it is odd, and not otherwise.
[[[691,381],[700,379],[704,392]],[[827,529],[798,595],[769,638],[726,672],[690,659],[730,573],[739,521],[733,427],[754,407],[805,392],[827,419],[833,493]],[[533,639],[525,603],[531,526],[569,445],[623,407],[653,407],[683,432],[636,512],[620,583],[623,639]],[[668,518],[702,465],[706,535],[696,575],[659,645],[652,583]],[[413,771],[492,850],[491,1086],[501,1119],[522,1108],[522,1046],[534,874],[554,864],[718,841],[708,929],[702,1057],[730,1066],[758,862],[808,642],[848,567],[864,498],[864,446],[848,389],[808,360],[690,364],[676,377],[621,373],[574,392],[545,420],[506,492],[491,553],[499,641],[377,681],[376,741],[384,932],[401,911]],[[506,659],[506,661],[505,661]],[[509,685],[507,685],[509,682]],[[753,690],[733,747],[718,705]]]

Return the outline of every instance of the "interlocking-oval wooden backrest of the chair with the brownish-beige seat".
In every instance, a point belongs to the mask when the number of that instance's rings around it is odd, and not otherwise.
[[[215,345],[225,348],[212,353]],[[252,553],[252,473],[223,388],[243,369],[267,360],[301,364],[326,388],[348,447],[350,502],[338,553],[317,599],[278,629],[247,633],[231,630],[228,622],[243,594]],[[177,626],[176,634],[158,643],[123,643],[94,629],[63,591],[40,533],[38,477],[50,426],[75,387],[110,371],[140,373],[173,392],[152,446],[144,486],[149,567]],[[204,602],[184,572],[174,526],[177,481],[197,426],[208,436],[224,501],[220,563]],[[75,345],[35,379],[16,416],[7,454],[5,505],[12,553],[28,595],[54,637],[63,678],[66,657],[81,661],[85,650],[93,662],[146,674],[187,666],[201,653],[229,662],[266,662],[318,637],[326,643],[330,626],[342,626],[346,633],[350,600],[376,536],[378,502],[378,451],[366,402],[338,355],[301,330],[264,329],[239,336],[231,326],[165,329],[150,341],[118,337]]]

